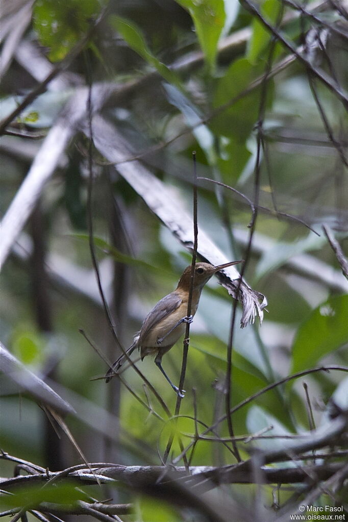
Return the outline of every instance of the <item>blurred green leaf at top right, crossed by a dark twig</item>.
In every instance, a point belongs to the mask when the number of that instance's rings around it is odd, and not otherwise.
[[[277,21],[281,3],[278,0],[266,0],[262,4],[261,13],[272,25]],[[253,35],[251,36],[247,49],[247,58],[251,63],[255,63],[259,55],[265,50],[270,42],[271,35],[262,22],[254,18]]]

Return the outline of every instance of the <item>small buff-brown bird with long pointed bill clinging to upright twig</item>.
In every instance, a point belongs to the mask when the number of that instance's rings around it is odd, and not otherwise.
[[[155,354],[155,364],[172,386],[174,392],[181,398],[184,397],[185,390],[179,390],[167,376],[162,368],[162,357],[175,345],[179,337],[185,333],[185,323],[191,323],[193,321],[203,286],[205,286],[209,279],[219,270],[242,262],[242,260],[232,261],[231,263],[225,263],[219,266],[213,266],[210,263],[196,263],[190,316],[186,314],[191,280],[191,265],[186,267],[183,275],[179,279],[176,289],[170,294],[165,295],[148,313],[145,321],[141,325],[140,331],[134,337],[133,344],[126,350],[127,355],[130,355],[138,348],[141,360],[143,360],[146,355],[151,353]],[[107,383],[113,375],[117,373],[124,359],[126,359],[126,355],[123,353],[107,371],[105,375],[105,381]]]

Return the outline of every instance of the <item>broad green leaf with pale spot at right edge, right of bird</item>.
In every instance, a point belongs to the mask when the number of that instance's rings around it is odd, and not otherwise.
[[[319,364],[348,343],[348,295],[328,299],[299,327],[292,348],[291,373]]]

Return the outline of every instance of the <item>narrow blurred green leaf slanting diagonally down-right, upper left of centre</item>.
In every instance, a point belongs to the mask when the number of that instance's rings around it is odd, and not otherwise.
[[[141,29],[135,25],[134,22],[126,20],[116,15],[109,18],[111,25],[121,34],[129,47],[138,53],[149,65],[157,69],[159,74],[170,84],[181,86],[181,82],[166,65],[156,58],[149,49],[148,44],[141,32]]]

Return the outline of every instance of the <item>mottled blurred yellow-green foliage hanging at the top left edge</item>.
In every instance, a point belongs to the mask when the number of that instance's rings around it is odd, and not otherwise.
[[[33,27],[42,45],[50,48],[53,62],[62,60],[86,34],[90,20],[98,15],[98,0],[37,0],[33,9]]]

